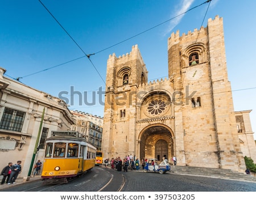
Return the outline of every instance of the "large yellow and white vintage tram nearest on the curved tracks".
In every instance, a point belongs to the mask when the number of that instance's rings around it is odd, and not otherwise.
[[[79,132],[53,131],[46,139],[42,178],[67,181],[92,169],[95,158],[96,147]]]

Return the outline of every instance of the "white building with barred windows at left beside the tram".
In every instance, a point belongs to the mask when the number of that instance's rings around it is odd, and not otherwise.
[[[44,142],[52,130],[71,130],[75,123],[67,104],[3,76],[0,67],[0,169],[22,161],[19,177],[32,175],[32,167],[44,159]]]

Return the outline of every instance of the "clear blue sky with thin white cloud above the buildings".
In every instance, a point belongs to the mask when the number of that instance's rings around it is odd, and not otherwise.
[[[148,80],[166,78],[171,33],[179,30],[181,35],[202,23],[206,27],[209,18],[219,15],[224,19],[234,110],[252,109],[251,125],[256,130],[256,1],[40,1],[0,0],[0,66],[7,70],[7,77],[20,78],[53,96],[62,94],[72,110],[104,116],[98,98],[94,105],[79,105],[79,95],[71,93],[81,92],[84,99],[87,92],[88,103],[93,103],[93,92],[105,90],[110,54],[121,56],[138,44]],[[84,57],[92,53],[96,54],[90,60]]]

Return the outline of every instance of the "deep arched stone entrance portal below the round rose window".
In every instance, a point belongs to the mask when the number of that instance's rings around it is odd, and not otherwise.
[[[165,125],[151,125],[143,129],[140,135],[139,157],[162,160],[166,155],[170,161],[174,155],[172,131]]]

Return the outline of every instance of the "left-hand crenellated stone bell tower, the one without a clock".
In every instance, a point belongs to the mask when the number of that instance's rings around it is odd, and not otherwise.
[[[106,70],[106,93],[102,137],[105,158],[135,153],[135,123],[139,85],[147,83],[147,69],[138,45],[118,58],[109,56]]]

